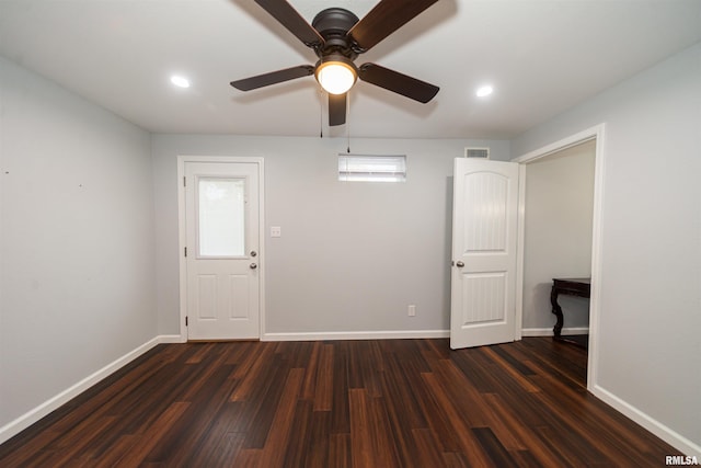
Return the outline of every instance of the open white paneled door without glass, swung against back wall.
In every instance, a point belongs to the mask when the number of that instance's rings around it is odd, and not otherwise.
[[[450,347],[514,341],[518,164],[457,158],[453,174]]]

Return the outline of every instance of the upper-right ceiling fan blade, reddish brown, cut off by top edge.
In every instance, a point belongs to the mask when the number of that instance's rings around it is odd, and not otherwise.
[[[437,1],[382,0],[348,31],[348,35],[368,50]]]

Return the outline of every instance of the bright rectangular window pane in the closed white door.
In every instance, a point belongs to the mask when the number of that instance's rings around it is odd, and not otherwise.
[[[200,178],[199,256],[243,256],[245,252],[245,180]]]

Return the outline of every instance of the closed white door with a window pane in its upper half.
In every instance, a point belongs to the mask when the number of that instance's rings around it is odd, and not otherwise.
[[[185,162],[189,340],[260,338],[258,164]]]

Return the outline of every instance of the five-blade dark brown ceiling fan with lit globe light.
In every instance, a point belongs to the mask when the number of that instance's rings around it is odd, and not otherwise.
[[[359,78],[421,103],[427,103],[438,87],[377,64],[354,64],[358,55],[399,30],[438,0],[381,0],[370,12],[358,18],[343,8],[327,8],[309,24],[285,0],[255,0],[306,46],[319,60],[314,66],[300,65],[232,81],[231,85],[250,91],[296,78],[314,75],[329,93],[329,125],[346,122],[347,91]]]

